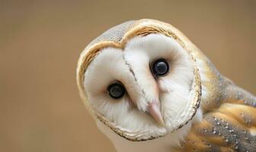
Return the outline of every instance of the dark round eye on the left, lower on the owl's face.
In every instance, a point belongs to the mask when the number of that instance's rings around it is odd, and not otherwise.
[[[114,84],[110,84],[110,86],[107,87],[107,91],[110,97],[114,99],[119,99],[120,97],[123,97],[123,94],[125,93],[125,88],[122,84],[116,82]]]

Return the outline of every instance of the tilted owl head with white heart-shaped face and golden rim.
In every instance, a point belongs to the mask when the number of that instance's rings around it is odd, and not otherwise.
[[[96,121],[130,141],[187,128],[201,79],[193,43],[161,21],[128,21],[93,40],[78,60],[78,90]]]

